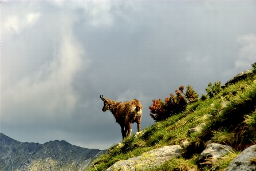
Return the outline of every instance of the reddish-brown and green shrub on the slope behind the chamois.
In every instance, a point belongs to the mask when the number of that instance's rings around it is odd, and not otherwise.
[[[166,97],[164,102],[159,100],[152,100],[153,104],[149,106],[150,116],[155,121],[164,121],[174,114],[183,112],[186,109],[188,103],[192,103],[198,100],[198,94],[193,88],[188,85],[187,90],[184,93],[184,86],[179,86],[179,90],[175,90],[176,96],[170,94],[170,98]],[[183,96],[184,95],[184,96]]]

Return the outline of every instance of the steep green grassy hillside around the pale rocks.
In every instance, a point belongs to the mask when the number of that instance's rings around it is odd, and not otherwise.
[[[225,101],[229,103],[224,108],[221,103]],[[165,145],[181,145],[184,141],[189,141],[190,145],[184,149],[183,157],[167,161],[152,170],[202,170],[198,156],[209,140],[235,149],[219,158],[211,168],[223,170],[243,149],[256,144],[255,106],[256,74],[251,73],[245,79],[222,89],[214,97],[194,102],[184,112],[166,121],[155,122],[144,129],[143,136],[136,138],[133,134],[121,148],[116,148],[118,144],[112,146],[108,154],[93,161],[89,170],[105,170],[116,161],[140,156],[143,152]],[[188,134],[188,129],[202,122],[206,123],[202,132]]]

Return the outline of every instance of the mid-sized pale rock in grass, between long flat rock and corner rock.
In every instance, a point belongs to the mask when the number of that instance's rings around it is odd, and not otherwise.
[[[231,148],[231,146],[211,143],[206,146],[206,149],[204,149],[203,152],[200,154],[198,160],[200,164],[204,164],[205,166],[206,161],[207,164],[211,164],[219,157],[222,157],[223,155],[232,151],[233,148]]]

